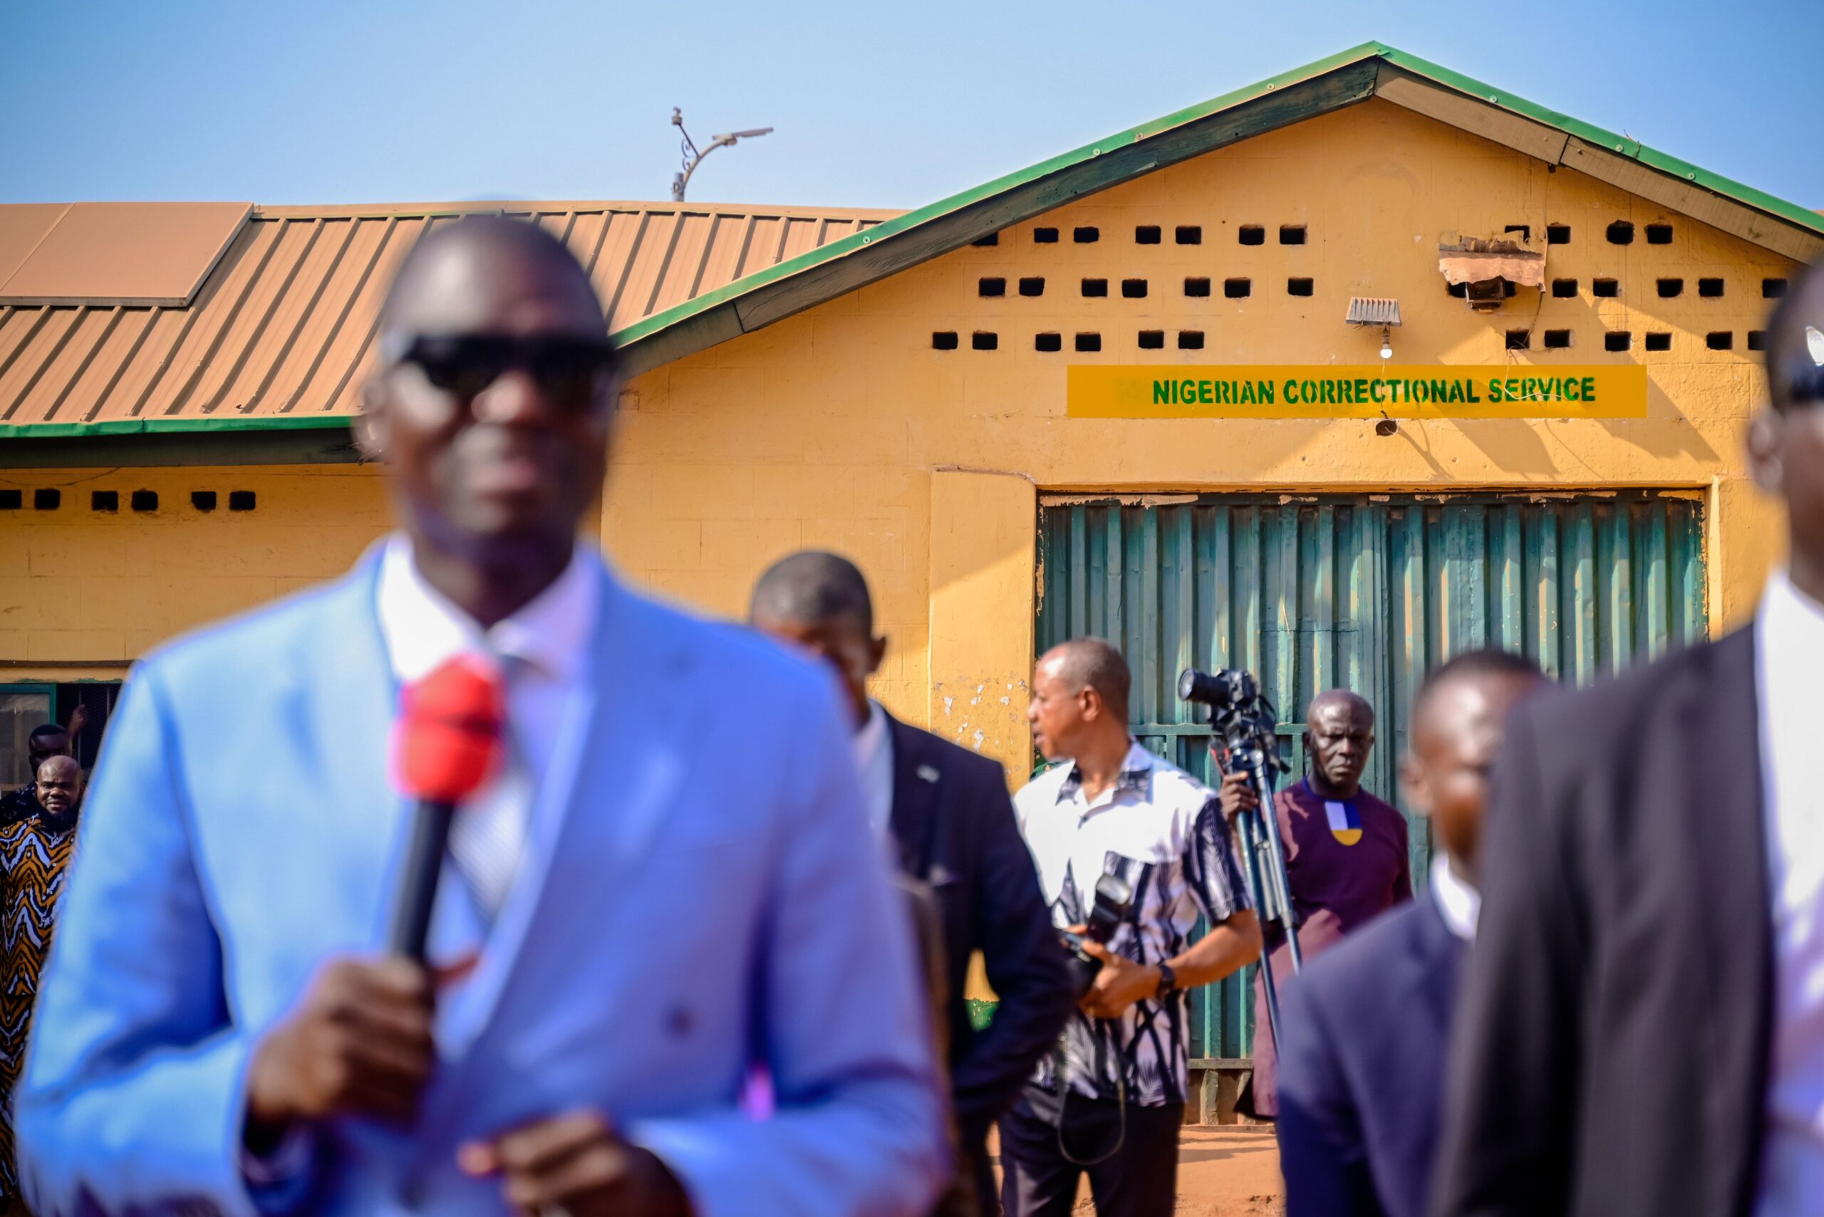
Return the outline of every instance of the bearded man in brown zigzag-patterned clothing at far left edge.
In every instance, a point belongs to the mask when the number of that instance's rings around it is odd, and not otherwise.
[[[77,844],[82,767],[67,756],[38,765],[35,814],[0,829],[0,1202],[18,1195],[13,1166],[13,1084],[26,1064],[38,971],[51,947],[57,898]]]

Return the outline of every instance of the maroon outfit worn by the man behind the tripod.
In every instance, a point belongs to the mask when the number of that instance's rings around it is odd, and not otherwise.
[[[1286,878],[1299,911],[1299,947],[1306,962],[1332,947],[1363,922],[1412,898],[1412,865],[1406,858],[1406,818],[1368,791],[1341,805],[1337,829],[1324,800],[1310,783],[1280,791],[1279,834],[1286,847]],[[1361,833],[1353,844],[1344,844]],[[1270,938],[1271,942],[1273,938]],[[1273,980],[1291,977],[1284,940],[1273,947]],[[1266,989],[1255,977],[1253,1110],[1277,1115],[1277,1058],[1268,1031]]]

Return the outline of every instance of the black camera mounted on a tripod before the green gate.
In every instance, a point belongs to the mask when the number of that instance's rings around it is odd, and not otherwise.
[[[1279,758],[1279,712],[1260,696],[1253,672],[1222,669],[1198,672],[1184,669],[1178,676],[1178,700],[1209,707],[1211,751],[1217,741],[1228,752],[1228,769],[1249,776],[1259,800],[1253,811],[1235,816],[1240,838],[1242,864],[1248,874],[1248,895],[1253,896],[1260,927],[1277,926],[1286,936],[1291,969],[1299,971],[1304,958],[1299,953],[1299,913],[1291,905],[1291,882],[1286,878],[1286,851],[1279,840],[1279,814],[1273,809],[1273,776],[1286,772]],[[1279,1042],[1279,993],[1273,967],[1260,960],[1266,1013]]]

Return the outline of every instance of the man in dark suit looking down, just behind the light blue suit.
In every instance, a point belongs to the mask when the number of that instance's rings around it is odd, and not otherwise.
[[[1001,767],[901,723],[868,698],[886,638],[874,634],[866,579],[846,557],[806,550],[779,559],[753,588],[750,619],[835,669],[855,712],[868,816],[899,869],[936,898],[959,1170],[979,1212],[996,1213],[989,1126],[1056,1042],[1076,1000]],[[983,1031],[970,1024],[963,998],[976,951],[1000,998]]]

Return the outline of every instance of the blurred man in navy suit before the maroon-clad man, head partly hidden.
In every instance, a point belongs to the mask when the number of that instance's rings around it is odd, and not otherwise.
[[[1472,650],[1434,670],[1414,698],[1401,782],[1443,853],[1417,898],[1286,984],[1279,1148],[1288,1217],[1425,1217],[1445,1037],[1476,936],[1488,767],[1508,712],[1539,680],[1525,656]]]

